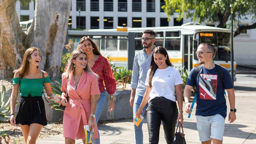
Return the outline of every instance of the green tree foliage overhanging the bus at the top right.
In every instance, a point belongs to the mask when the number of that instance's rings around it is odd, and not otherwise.
[[[255,22],[255,3],[256,0],[165,0],[162,9],[167,13],[169,19],[174,13],[178,13],[178,20],[185,16],[200,23],[218,22],[218,27],[226,28],[226,22],[232,12],[234,21],[241,21],[247,19],[246,16],[252,15],[254,17],[252,21]]]

